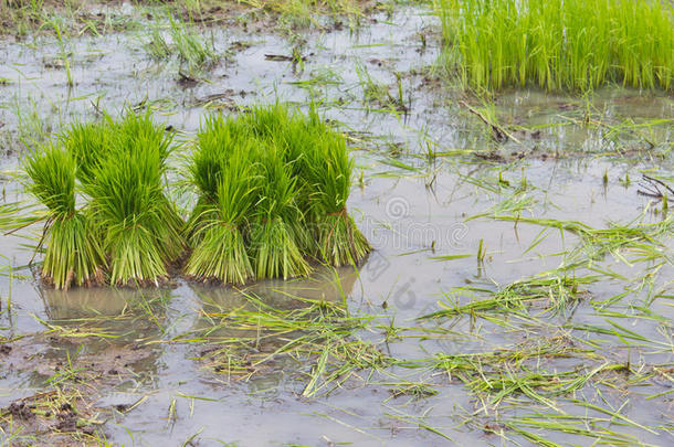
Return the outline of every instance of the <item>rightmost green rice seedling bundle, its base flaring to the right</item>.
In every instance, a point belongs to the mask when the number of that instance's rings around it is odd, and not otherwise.
[[[257,107],[244,119],[255,135],[281,148],[286,169],[296,179],[299,219],[313,233],[296,226],[301,247],[334,266],[365,257],[371,247],[346,207],[354,163],[344,137],[314,109],[305,116],[275,104]]]

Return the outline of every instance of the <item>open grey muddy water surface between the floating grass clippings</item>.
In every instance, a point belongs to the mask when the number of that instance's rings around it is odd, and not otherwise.
[[[232,50],[203,76],[209,82],[182,85],[179,63],[152,62],[143,43],[146,32],[104,36],[81,36],[65,43],[72,52],[75,85],[67,87],[63,68],[54,62],[60,45],[42,38],[23,44],[0,44],[0,77],[11,79],[0,86],[0,121],[8,155],[3,170],[14,170],[20,160],[19,138],[35,137],[35,115],[46,130],[57,130],[71,119],[92,119],[96,107],[113,114],[126,105],[149,104],[159,119],[173,126],[181,138],[189,138],[206,113],[204,102],[223,94],[211,106],[224,110],[236,105],[282,100],[304,104],[310,98],[320,110],[350,130],[354,157],[362,183],[355,182],[349,209],[375,246],[359,269],[319,270],[309,279],[289,283],[268,281],[245,290],[212,288],[178,280],[175,288],[162,290],[78,289],[67,292],[46,290],[34,279],[34,269],[25,266],[32,253],[22,248],[25,241],[0,236],[1,254],[23,278],[0,277],[2,309],[11,290],[11,312],[0,316],[3,337],[30,336],[17,341],[9,355],[0,354],[0,407],[19,397],[40,392],[54,374],[55,364],[75,361],[113,373],[96,396],[96,405],[130,406],[126,415],[114,414],[104,432],[113,444],[158,445],[182,443],[191,436],[199,445],[220,441],[241,446],[259,445],[446,445],[447,439],[421,425],[451,437],[456,445],[499,444],[499,437],[486,435],[475,425],[462,423],[480,403],[461,383],[449,382],[433,370],[393,368],[391,376],[424,381],[435,385],[434,396],[413,400],[390,393],[390,376],[377,374],[370,383],[347,381],[328,396],[301,397],[304,383],[294,374],[305,365],[288,362],[273,374],[249,381],[214,374],[196,358],[193,343],[172,343],[175,338],[208,328],[211,309],[246,306],[243,294],[254,294],[275,307],[293,307],[293,296],[330,301],[346,301],[355,315],[377,316],[380,324],[394,321],[414,329],[436,324],[442,336],[391,340],[382,349],[398,359],[425,359],[434,353],[486,352],[513,347],[523,341],[545,338],[560,324],[609,327],[588,301],[564,315],[547,318],[550,327],[528,328],[516,318],[510,326],[470,318],[434,323],[415,319],[439,309],[456,287],[473,285],[496,289],[529,275],[550,270],[562,262],[562,252],[571,249],[578,237],[536,224],[514,224],[488,217],[468,219],[497,207],[508,213],[514,196],[526,199],[523,216],[580,221],[594,227],[609,222],[660,222],[652,210],[657,204],[638,194],[641,172],[670,174],[673,127],[660,125],[649,130],[654,148],[645,151],[643,138],[634,132],[611,134],[605,127],[582,125],[587,104],[577,97],[512,92],[496,99],[502,123],[543,129],[540,136],[523,143],[496,145],[488,129],[460,105],[463,95],[429,82],[420,68],[438,57],[438,42],[429,30],[436,20],[424,10],[401,9],[393,17],[379,17],[357,31],[310,32],[301,47],[307,56],[303,66],[268,58],[270,54],[292,54],[293,42],[272,34],[248,34],[236,30],[209,31],[209,39],[220,53]],[[428,34],[428,46],[419,33]],[[250,43],[249,47],[235,42]],[[243,45],[246,46],[246,45]],[[381,104],[364,99],[365,73],[389,86],[397,96],[397,76],[409,113],[381,109]],[[359,75],[360,73],[360,75]],[[320,82],[319,79],[324,79]],[[327,83],[325,79],[329,79]],[[96,105],[96,107],[93,106]],[[476,103],[478,104],[478,103]],[[647,120],[674,117],[674,99],[662,94],[640,94],[611,88],[591,102],[593,116],[613,126],[625,119]],[[598,118],[599,119],[599,118]],[[651,129],[651,128],[649,128]],[[519,135],[519,134],[518,134]],[[432,161],[418,156],[433,141],[439,156]],[[623,150],[624,149],[624,150]],[[501,159],[483,159],[472,152],[496,152]],[[636,152],[635,152],[636,151]],[[513,152],[517,156],[513,156]],[[570,153],[570,157],[556,157]],[[524,158],[520,158],[524,156]],[[404,163],[407,168],[401,168]],[[604,175],[608,182],[604,183]],[[626,175],[632,181],[626,182]],[[525,192],[517,189],[526,183]],[[8,201],[23,200],[19,182],[2,180]],[[499,207],[501,206],[501,207]],[[496,214],[501,214],[496,212]],[[664,237],[662,251],[672,259],[674,243]],[[483,262],[475,254],[486,249]],[[450,260],[433,259],[445,255],[470,255]],[[4,260],[0,260],[2,265]],[[622,275],[624,280],[601,280],[583,286],[597,300],[625,290],[652,263],[625,265],[608,256],[598,267]],[[578,270],[581,276],[587,272]],[[630,318],[634,308],[647,299],[649,288],[636,288],[612,310],[626,316],[621,324],[650,340],[667,343],[668,350],[643,348],[626,350],[615,337],[600,338],[597,352],[613,361],[631,355],[634,364],[671,364],[672,307],[674,269],[666,263],[653,276],[653,287],[662,288],[650,310],[664,321]],[[667,291],[668,290],[668,291]],[[456,295],[466,302],[470,297]],[[54,328],[61,328],[54,330]],[[67,331],[89,337],[61,337]],[[566,331],[562,330],[562,331]],[[569,330],[570,331],[570,330]],[[51,333],[55,336],[50,336]],[[221,329],[218,337],[245,337]],[[383,330],[373,326],[355,333],[373,342],[383,339]],[[665,344],[666,345],[666,344]],[[647,359],[647,360],[646,360]],[[580,359],[556,360],[555,368],[579,366]],[[400,380],[400,379],[399,379]],[[652,383],[650,394],[671,389],[671,382]],[[598,402],[592,390],[587,398]],[[608,397],[620,404],[619,396]],[[170,407],[175,404],[176,413]],[[567,408],[570,414],[583,409]],[[517,416],[524,411],[506,408]],[[632,395],[622,413],[636,423],[664,425],[671,415],[666,395],[645,401]],[[624,427],[644,443],[667,445],[674,441],[671,429],[655,433]],[[559,443],[588,443],[588,439],[558,432],[540,432]],[[1,439],[1,437],[0,437]]]

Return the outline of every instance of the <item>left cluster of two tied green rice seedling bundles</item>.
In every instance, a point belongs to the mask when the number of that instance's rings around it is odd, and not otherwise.
[[[25,162],[29,191],[49,210],[42,277],[71,285],[158,284],[185,251],[166,196],[171,138],[149,114],[73,125]],[[78,206],[78,204],[82,205]]]

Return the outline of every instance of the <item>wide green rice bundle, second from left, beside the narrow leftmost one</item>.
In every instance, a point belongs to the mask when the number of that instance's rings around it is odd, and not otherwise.
[[[82,137],[70,146],[74,155],[87,147],[97,156],[77,157],[88,171],[81,175],[89,199],[92,219],[102,234],[109,257],[114,285],[157,284],[186,249],[182,221],[166,196],[165,175],[171,137],[152,123],[149,113],[127,111],[119,121],[107,117],[101,125],[105,145],[84,137],[92,127],[71,130]],[[83,131],[85,129],[86,131]]]

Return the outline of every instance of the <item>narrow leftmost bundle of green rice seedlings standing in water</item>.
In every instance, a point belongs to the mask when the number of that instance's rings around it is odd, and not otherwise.
[[[87,214],[75,207],[75,160],[48,143],[25,162],[29,191],[48,209],[42,277],[59,289],[101,283],[105,257]]]

